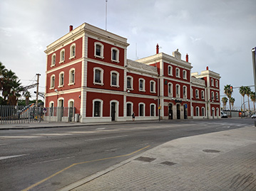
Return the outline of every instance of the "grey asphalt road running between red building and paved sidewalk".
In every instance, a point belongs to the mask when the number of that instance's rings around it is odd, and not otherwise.
[[[0,190],[58,190],[175,138],[254,124],[253,119],[153,121],[0,131]]]

